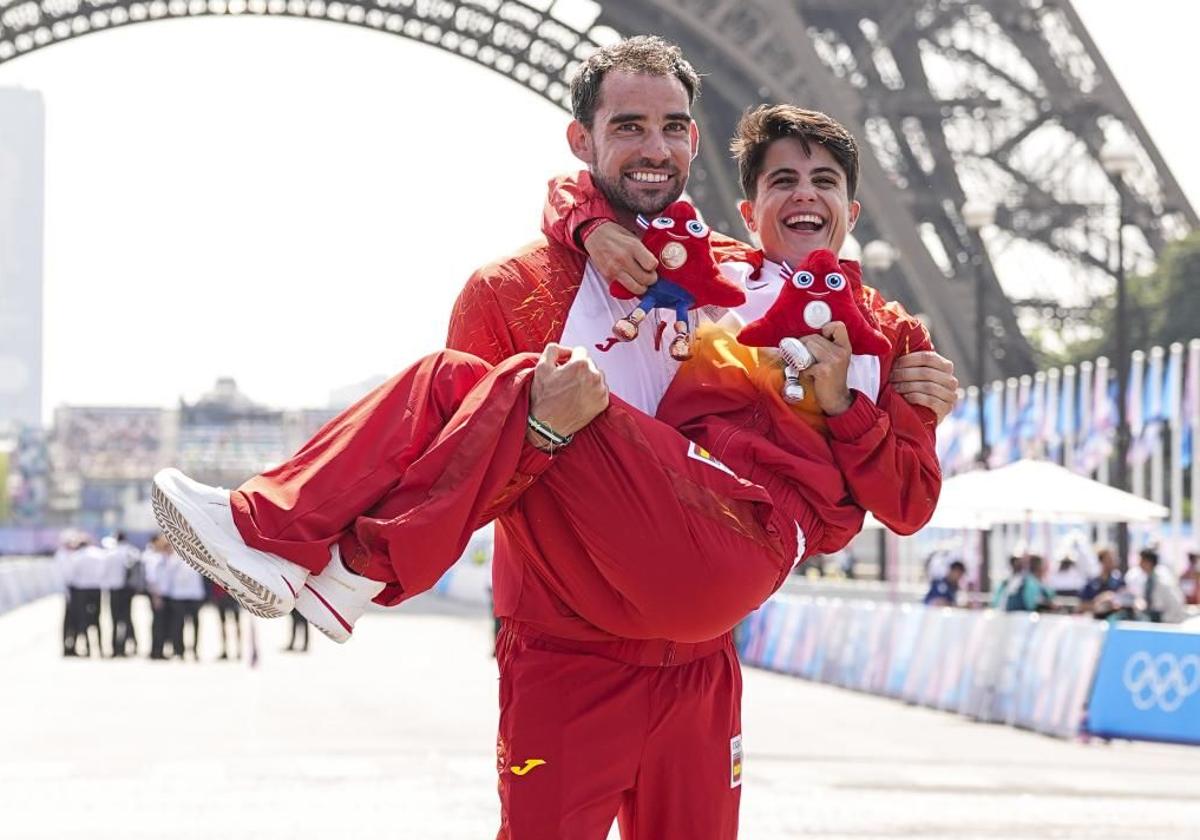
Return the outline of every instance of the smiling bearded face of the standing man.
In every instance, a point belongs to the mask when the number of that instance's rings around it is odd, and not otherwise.
[[[634,216],[683,194],[700,133],[674,76],[614,71],[600,85],[592,128],[572,121],[568,139],[613,208]]]

